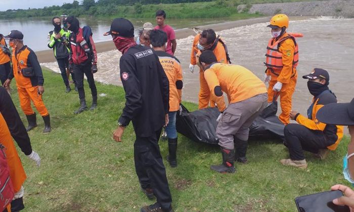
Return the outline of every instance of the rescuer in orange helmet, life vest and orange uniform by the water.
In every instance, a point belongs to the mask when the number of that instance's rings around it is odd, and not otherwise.
[[[282,113],[279,119],[290,123],[291,98],[296,86],[296,66],[298,64],[298,46],[293,35],[285,30],[289,26],[289,18],[284,14],[275,15],[268,27],[272,28],[273,38],[269,40],[265,66],[267,70],[264,82],[269,82],[268,102],[280,95]]]

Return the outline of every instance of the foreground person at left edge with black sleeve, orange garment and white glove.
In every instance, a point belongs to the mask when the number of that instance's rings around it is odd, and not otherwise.
[[[22,197],[24,194],[23,183],[26,180],[26,173],[11,137],[14,138],[21,151],[39,166],[40,157],[32,150],[30,139],[20,115],[6,89],[0,87],[0,144],[5,147],[4,152],[7,157],[10,168],[10,179],[15,192],[15,197],[8,209],[10,210],[11,208],[11,211],[19,211],[24,208]],[[3,186],[0,185],[0,187]],[[5,211],[9,211],[8,209]]]

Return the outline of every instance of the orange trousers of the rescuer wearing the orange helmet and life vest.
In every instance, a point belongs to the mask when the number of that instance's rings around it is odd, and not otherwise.
[[[268,87],[268,102],[272,102],[274,91],[273,87],[277,83],[277,80],[271,80]],[[282,113],[279,115],[279,119],[284,123],[290,123],[290,111],[291,111],[291,102],[292,95],[294,94],[296,87],[296,77],[291,77],[290,82],[283,84],[282,89],[280,90],[280,107],[282,108]]]

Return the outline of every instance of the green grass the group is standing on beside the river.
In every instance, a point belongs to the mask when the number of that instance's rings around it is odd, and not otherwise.
[[[42,134],[43,121],[37,115],[38,127],[29,136],[42,159],[40,167],[19,150],[28,177],[24,211],[139,211],[141,206],[154,203],[140,191],[132,126],[127,127],[122,143],[112,139],[125,102],[123,89],[97,83],[99,94],[107,94],[99,97],[98,109],[74,115],[79,106],[77,93],[64,93],[59,74],[43,73],[43,99],[52,116],[52,132]],[[27,125],[15,82],[12,88],[12,98]],[[86,82],[85,91],[90,106]],[[193,103],[185,105],[197,109]],[[324,161],[306,154],[308,168],[301,170],[279,163],[288,156],[281,143],[251,141],[249,163],[237,164],[237,173],[223,175],[209,168],[222,159],[218,147],[179,135],[179,166],[170,168],[164,160],[173,207],[175,211],[295,211],[296,196],[329,190],[336,183],[348,185],[342,175],[347,144],[345,138]],[[167,142],[160,142],[160,148],[164,158]]]

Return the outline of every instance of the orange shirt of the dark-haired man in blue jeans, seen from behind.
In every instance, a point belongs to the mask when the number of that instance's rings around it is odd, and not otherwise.
[[[182,101],[183,76],[180,61],[172,55],[156,51],[169,81],[169,111],[178,111]]]

